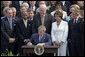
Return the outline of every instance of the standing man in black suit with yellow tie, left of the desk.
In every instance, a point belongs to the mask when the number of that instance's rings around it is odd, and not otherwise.
[[[27,18],[28,13],[22,12],[22,18],[21,20],[17,21],[15,27],[16,36],[18,38],[18,47],[20,55],[22,55],[21,46],[25,45],[29,41],[31,36],[31,24],[29,24]]]

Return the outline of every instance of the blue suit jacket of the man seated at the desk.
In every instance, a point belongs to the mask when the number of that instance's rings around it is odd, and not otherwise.
[[[37,45],[38,43],[45,43],[45,45],[51,45],[52,44],[51,36],[47,33],[45,33],[43,35],[41,42],[39,42],[39,34],[38,33],[33,34],[32,37],[31,37],[31,42],[32,42],[33,45]]]

